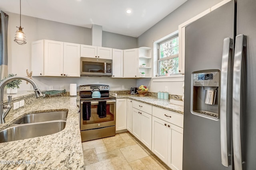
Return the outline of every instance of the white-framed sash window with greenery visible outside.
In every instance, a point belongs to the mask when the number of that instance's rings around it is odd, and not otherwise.
[[[158,74],[177,74],[178,59],[178,34],[158,43]]]

